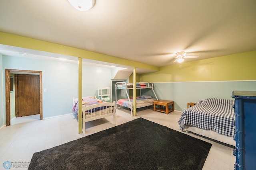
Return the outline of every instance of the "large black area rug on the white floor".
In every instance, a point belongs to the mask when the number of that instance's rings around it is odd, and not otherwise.
[[[201,170],[212,144],[143,118],[36,152],[29,170]]]

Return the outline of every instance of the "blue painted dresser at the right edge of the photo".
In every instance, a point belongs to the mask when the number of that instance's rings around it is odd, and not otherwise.
[[[233,91],[235,99],[235,170],[256,169],[256,91]]]

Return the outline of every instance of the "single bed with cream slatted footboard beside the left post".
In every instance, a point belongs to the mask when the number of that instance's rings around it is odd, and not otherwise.
[[[78,119],[78,98],[73,98],[73,115]],[[83,133],[85,133],[85,123],[104,117],[113,116],[116,124],[116,102],[109,103],[102,100],[86,96],[82,98],[82,122]]]

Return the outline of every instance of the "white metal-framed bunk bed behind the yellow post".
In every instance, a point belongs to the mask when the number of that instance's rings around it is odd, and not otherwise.
[[[125,90],[127,98],[125,99],[119,99],[116,102],[116,108],[118,106],[123,106],[130,108],[131,110],[131,116],[132,116],[132,111],[133,111],[133,98],[129,97],[128,90],[133,90],[134,89],[134,83],[126,83],[126,82],[117,82],[116,83],[116,100],[117,98],[117,93],[120,92],[121,90]],[[154,105],[154,101],[158,100],[156,93],[154,92],[154,86],[153,83],[151,82],[137,82],[136,83],[136,89],[140,89],[140,96],[136,97],[136,109],[141,108],[141,107],[146,107],[146,106],[151,106]],[[151,89],[154,97],[148,96],[148,95],[142,95],[141,90],[142,89]]]

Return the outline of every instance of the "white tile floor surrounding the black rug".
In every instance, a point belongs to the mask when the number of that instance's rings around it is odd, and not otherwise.
[[[158,111],[154,112],[152,107],[140,108],[137,111],[137,116],[131,117],[130,110],[117,109],[116,125],[142,117],[180,131],[178,126],[180,112],[174,111],[166,115]],[[11,162],[30,161],[34,152],[113,127],[113,117],[111,116],[86,123],[86,134],[78,134],[78,122],[73,115],[43,120],[39,120],[39,117],[39,115],[19,117],[14,119],[10,126],[0,129],[0,170],[5,170],[2,164],[6,160]],[[232,148],[191,133],[185,134],[212,143],[203,170],[234,170],[236,158],[232,155]],[[186,141],[184,141],[184,145],[186,145]],[[20,170],[20,168],[16,169]]]

